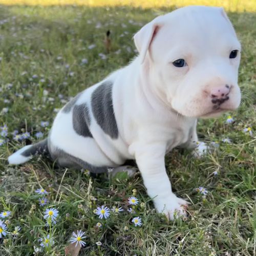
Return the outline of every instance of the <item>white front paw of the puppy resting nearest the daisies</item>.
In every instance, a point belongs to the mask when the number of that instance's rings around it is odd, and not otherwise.
[[[158,212],[162,212],[169,220],[174,220],[175,217],[186,216],[186,207],[188,202],[184,199],[178,198],[175,195],[168,199],[167,203],[156,204]]]

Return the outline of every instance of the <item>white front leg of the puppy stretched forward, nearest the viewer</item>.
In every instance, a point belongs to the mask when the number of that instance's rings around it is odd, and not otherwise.
[[[166,174],[164,156],[165,144],[145,144],[138,146],[135,159],[141,172],[147,194],[155,204],[158,212],[163,212],[170,219],[177,215],[186,215],[182,205],[187,202],[175,196]]]

